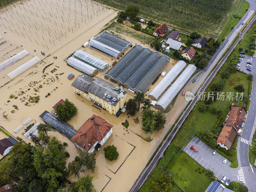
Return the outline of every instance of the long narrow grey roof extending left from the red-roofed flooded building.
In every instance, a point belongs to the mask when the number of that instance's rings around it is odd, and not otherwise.
[[[68,139],[71,139],[77,133],[73,127],[61,121],[48,111],[44,111],[44,113],[42,113],[39,117],[41,117],[46,123],[51,124],[56,130],[66,135]]]

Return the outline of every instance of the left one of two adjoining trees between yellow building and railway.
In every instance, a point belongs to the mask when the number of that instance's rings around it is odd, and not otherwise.
[[[151,109],[145,109],[142,115],[142,129],[145,132],[152,133],[154,130],[154,124],[155,124],[155,113],[154,110]]]

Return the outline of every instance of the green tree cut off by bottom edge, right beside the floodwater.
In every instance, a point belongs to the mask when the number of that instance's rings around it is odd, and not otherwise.
[[[94,186],[92,184],[92,178],[90,175],[79,178],[76,182],[71,184],[73,192],[94,192]]]

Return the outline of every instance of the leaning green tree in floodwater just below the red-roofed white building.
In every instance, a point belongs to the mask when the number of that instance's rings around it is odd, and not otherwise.
[[[86,166],[87,169],[91,169],[94,172],[96,167],[96,159],[92,153],[82,151],[79,156],[76,156],[75,160],[82,166]]]

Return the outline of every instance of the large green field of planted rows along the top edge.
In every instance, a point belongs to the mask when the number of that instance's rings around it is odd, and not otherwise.
[[[118,10],[128,4],[140,6],[139,16],[185,33],[198,31],[206,37],[217,38],[232,4],[237,0],[95,0]]]

